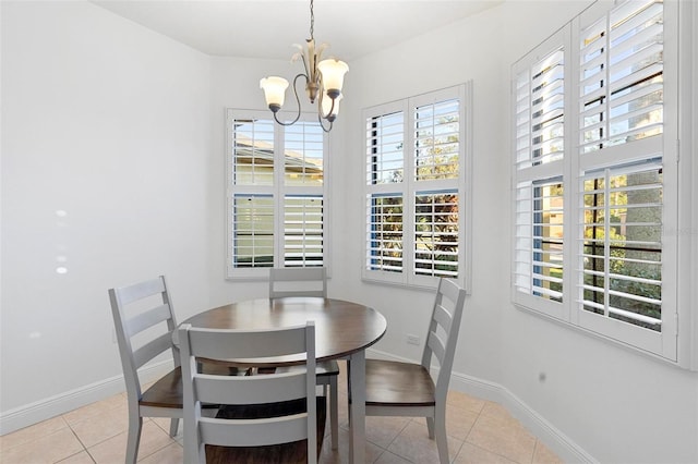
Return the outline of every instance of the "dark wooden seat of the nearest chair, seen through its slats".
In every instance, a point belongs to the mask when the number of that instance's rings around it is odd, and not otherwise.
[[[317,404],[317,455],[323,447],[327,400],[316,398]],[[293,400],[270,404],[227,405],[220,408],[216,417],[226,419],[266,418],[305,412],[305,400]],[[206,464],[229,463],[306,463],[308,444],[305,440],[265,447],[216,447],[206,444]]]

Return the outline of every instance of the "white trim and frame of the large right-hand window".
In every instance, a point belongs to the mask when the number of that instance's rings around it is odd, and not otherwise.
[[[693,236],[696,235],[695,227],[690,228],[690,225],[688,225],[689,230],[694,231],[693,234],[681,233],[682,230],[687,230],[686,225],[682,229],[681,224],[689,224],[690,221],[695,224],[698,216],[695,211],[690,210],[687,203],[681,200],[682,198],[688,198],[691,192],[693,198],[696,197],[695,185],[693,185],[696,183],[696,175],[694,172],[691,176],[690,169],[687,169],[690,167],[691,160],[687,159],[689,156],[685,156],[683,159],[678,157],[678,141],[684,141],[681,144],[682,152],[688,155],[689,151],[684,150],[684,148],[690,146],[691,137],[694,137],[694,144],[697,138],[691,129],[691,121],[695,121],[694,114],[698,106],[696,101],[697,98],[694,96],[694,101],[686,101],[686,105],[679,101],[678,98],[679,86],[683,88],[681,95],[691,95],[689,90],[691,87],[690,83],[696,70],[696,60],[689,56],[689,51],[691,50],[689,40],[691,36],[685,32],[690,28],[691,24],[698,24],[698,11],[696,11],[698,9],[696,9],[695,5],[686,4],[686,2],[671,0],[664,2],[664,133],[663,135],[652,137],[653,139],[647,139],[648,144],[661,145],[660,150],[662,152],[664,176],[663,188],[664,196],[667,198],[667,200],[663,203],[664,212],[662,224],[664,233],[662,235],[662,259],[664,260],[664,257],[666,257],[670,262],[662,269],[662,332],[649,333],[650,331],[648,330],[642,330],[641,328],[619,321],[607,323],[611,319],[602,321],[606,323],[599,323],[600,321],[597,320],[597,317],[593,317],[594,315],[578,308],[579,295],[576,294],[576,292],[579,291],[577,286],[577,271],[581,268],[581,262],[573,242],[577,242],[576,235],[579,233],[578,228],[580,220],[579,217],[573,217],[573,215],[581,213],[581,210],[576,208],[576,205],[581,202],[578,175],[579,172],[582,171],[581,168],[583,168],[583,166],[580,164],[587,161],[578,156],[578,145],[575,143],[576,141],[573,139],[573,137],[577,137],[578,132],[570,130],[570,127],[579,126],[578,112],[576,111],[579,72],[577,65],[578,50],[574,47],[578,47],[578,32],[580,30],[580,26],[583,27],[586,24],[599,20],[606,11],[612,9],[614,4],[613,2],[594,3],[552,36],[546,42],[537,47],[534,51],[515,63],[512,68],[512,96],[515,98],[515,76],[525,68],[526,62],[528,61],[529,65],[534,62],[534,54],[537,52],[540,52],[540,57],[543,57],[546,52],[552,51],[552,44],[555,41],[558,45],[564,44],[566,57],[566,103],[564,159],[565,285],[563,290],[563,304],[543,301],[542,298],[517,292],[514,281],[514,268],[512,271],[510,285],[512,301],[518,308],[558,321],[565,327],[574,328],[592,337],[610,340],[629,347],[633,351],[648,354],[650,357],[657,359],[698,370],[698,354],[696,354],[695,350],[696,344],[698,344],[698,314],[696,314],[695,309],[691,310],[690,304],[690,302],[693,302],[693,306],[695,306],[697,292],[695,291],[695,285],[691,285],[690,279],[686,277],[694,276],[695,280],[696,270],[694,265],[691,273],[691,265],[688,262],[690,260],[690,254],[678,252],[679,249],[693,249],[693,259],[695,260],[697,253],[695,243],[698,242],[698,240]],[[678,30],[679,20],[682,26],[684,26],[684,34],[682,35],[676,33]],[[569,54],[571,54],[570,59],[567,58]],[[575,63],[570,72],[568,71],[568,68],[570,68],[569,63]],[[678,63],[682,63],[681,69]],[[688,65],[685,65],[686,63],[688,63]],[[691,105],[693,112],[690,108]],[[513,142],[514,146],[516,146],[516,121],[513,121],[512,127]],[[623,158],[626,156],[628,158],[633,157],[631,154],[627,154],[630,147],[624,148],[619,146],[617,148],[618,154],[623,154]],[[694,160],[694,162],[696,162],[696,160]],[[514,206],[516,205],[517,180],[520,181],[521,178],[525,176],[521,172],[517,173],[515,164],[516,159],[514,158],[512,173]],[[695,166],[694,171],[696,171]],[[694,188],[693,191],[691,187]],[[573,208],[573,206],[575,206],[575,208]],[[513,208],[512,213],[513,224],[516,224],[516,207]],[[677,233],[673,231],[677,231]],[[513,236],[512,240],[512,249],[514,249],[516,236]],[[682,273],[684,273],[684,276],[682,276]],[[665,314],[664,310],[667,313]],[[686,323],[678,323],[679,320],[686,321]],[[618,327],[609,327],[614,325]]]

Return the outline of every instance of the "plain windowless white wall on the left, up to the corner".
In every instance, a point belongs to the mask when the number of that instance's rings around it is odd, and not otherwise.
[[[8,418],[121,375],[108,288],[164,273],[180,317],[208,304],[210,75],[87,2],[1,9]]]

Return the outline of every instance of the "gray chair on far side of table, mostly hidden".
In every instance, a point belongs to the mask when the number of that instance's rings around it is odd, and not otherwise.
[[[327,297],[327,270],[324,267],[270,268],[269,298],[289,296]],[[336,361],[317,363],[317,384],[323,387],[323,395],[329,398],[329,428],[332,449],[339,445],[339,404],[337,378],[339,364]],[[329,394],[327,394],[329,388]]]

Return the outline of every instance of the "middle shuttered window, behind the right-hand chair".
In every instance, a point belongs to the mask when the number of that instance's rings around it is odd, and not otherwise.
[[[468,288],[470,86],[363,111],[366,280]]]

